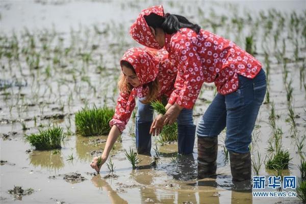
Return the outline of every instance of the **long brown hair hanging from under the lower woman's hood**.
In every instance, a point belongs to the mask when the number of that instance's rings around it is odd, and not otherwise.
[[[133,66],[129,62],[121,61],[120,65],[121,65],[121,67],[125,66],[125,67],[131,69],[136,74]],[[157,98],[157,95],[158,95],[159,89],[160,89],[159,82],[158,82],[157,78],[155,78],[154,81],[149,82],[147,84],[144,84],[142,86],[144,88],[147,86],[149,88],[149,92],[145,96],[145,99],[141,100],[141,103],[148,104],[150,101],[155,100]],[[121,92],[131,93],[131,91],[134,87],[131,84],[127,83],[125,75],[123,73],[121,73],[120,79],[118,81],[118,88]]]

